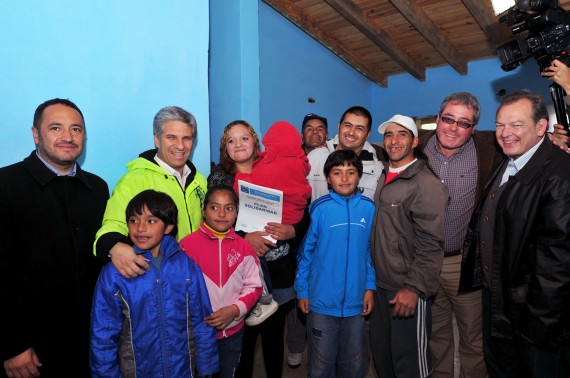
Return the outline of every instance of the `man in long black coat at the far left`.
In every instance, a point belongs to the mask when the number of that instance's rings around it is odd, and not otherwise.
[[[93,255],[109,189],[77,164],[85,122],[69,100],[34,114],[36,144],[0,169],[0,358],[9,377],[88,377]]]

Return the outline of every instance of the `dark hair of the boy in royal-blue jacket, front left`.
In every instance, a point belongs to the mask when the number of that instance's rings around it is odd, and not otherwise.
[[[134,196],[128,203],[125,215],[127,222],[134,215],[141,215],[146,206],[148,211],[165,225],[174,225],[171,235],[176,235],[178,223],[178,208],[172,198],[163,192],[147,189]]]

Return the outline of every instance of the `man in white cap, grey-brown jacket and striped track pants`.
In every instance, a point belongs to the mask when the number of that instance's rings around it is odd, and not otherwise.
[[[439,286],[448,195],[414,155],[418,129],[412,118],[395,115],[378,131],[384,134],[389,167],[374,194],[372,357],[381,377],[426,377],[432,370],[431,297]]]

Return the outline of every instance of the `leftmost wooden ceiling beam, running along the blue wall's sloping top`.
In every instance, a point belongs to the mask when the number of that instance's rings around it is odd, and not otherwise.
[[[281,13],[285,18],[300,27],[368,79],[382,87],[388,86],[388,79],[384,72],[379,69],[371,69],[370,65],[355,55],[349,46],[346,46],[342,41],[320,28],[314,18],[303,14],[293,2],[289,0],[263,0],[263,2]]]

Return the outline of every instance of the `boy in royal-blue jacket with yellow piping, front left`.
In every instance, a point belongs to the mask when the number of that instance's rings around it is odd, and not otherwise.
[[[218,371],[216,329],[204,277],[180,250],[177,208],[145,190],[126,209],[129,237],[150,270],[124,278],[103,268],[91,309],[92,377],[196,377]]]

